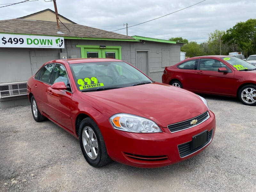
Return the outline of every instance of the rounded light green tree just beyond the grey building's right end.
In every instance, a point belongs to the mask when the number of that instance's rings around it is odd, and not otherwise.
[[[183,47],[180,48],[180,51],[186,52],[186,56],[188,57],[205,55],[204,49],[195,41],[190,41],[188,44],[184,44]]]

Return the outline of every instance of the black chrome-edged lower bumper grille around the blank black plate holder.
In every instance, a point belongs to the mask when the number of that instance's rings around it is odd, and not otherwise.
[[[203,148],[204,146],[206,146],[212,140],[212,134],[213,134],[213,129],[211,131],[208,131],[207,142],[204,145],[202,145],[194,150],[190,149],[190,143],[192,141],[178,145],[180,157],[188,156],[192,153],[195,153],[196,151]]]

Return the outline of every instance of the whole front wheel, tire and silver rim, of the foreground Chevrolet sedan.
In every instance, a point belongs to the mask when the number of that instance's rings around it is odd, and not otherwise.
[[[90,117],[81,121],[78,138],[84,158],[90,165],[101,167],[111,161],[100,129]]]

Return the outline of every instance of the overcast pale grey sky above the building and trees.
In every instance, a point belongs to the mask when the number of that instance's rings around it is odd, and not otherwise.
[[[0,0],[0,4],[23,0]],[[31,0],[32,1],[32,0]],[[57,0],[62,16],[85,26],[104,30],[138,24],[185,8],[202,0]],[[0,5],[4,6],[4,5]],[[0,20],[22,17],[44,9],[54,10],[53,2],[38,0],[0,8]],[[256,0],[206,0],[169,16],[128,28],[128,35],[159,39],[181,36],[198,43],[215,29],[226,30],[239,21],[256,18]],[[9,17],[6,17],[9,16]],[[109,27],[111,26],[111,27]],[[126,29],[116,31],[126,35]]]

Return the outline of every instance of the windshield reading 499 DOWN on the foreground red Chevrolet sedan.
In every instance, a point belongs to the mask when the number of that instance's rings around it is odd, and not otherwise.
[[[136,68],[123,61],[70,64],[78,90],[101,91],[130,87],[152,81]]]

